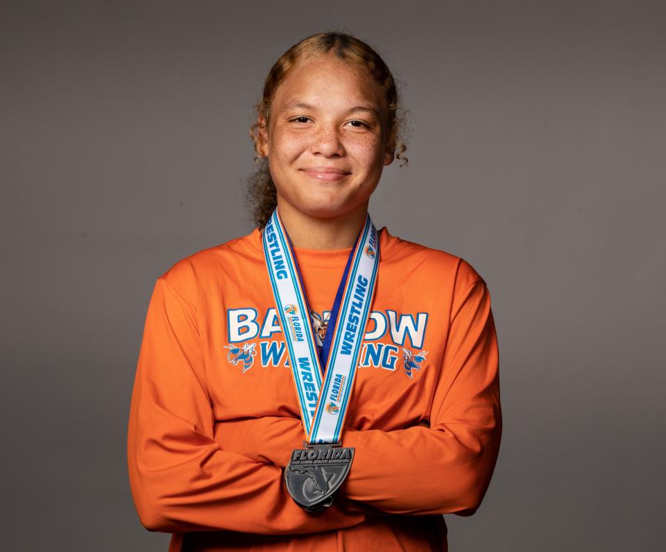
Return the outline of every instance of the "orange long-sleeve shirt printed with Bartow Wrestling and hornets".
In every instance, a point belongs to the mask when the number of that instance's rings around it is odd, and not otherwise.
[[[334,505],[314,514],[282,480],[305,433],[259,230],[157,279],[128,468],[139,519],[173,533],[169,552],[446,550],[441,514],[479,507],[502,432],[486,283],[386,228],[379,242],[342,437],[355,458]],[[295,249],[320,335],[349,251]]]

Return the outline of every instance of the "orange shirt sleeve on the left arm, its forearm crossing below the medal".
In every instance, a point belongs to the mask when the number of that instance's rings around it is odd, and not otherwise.
[[[349,502],[309,515],[287,493],[280,467],[221,448],[196,313],[163,278],[146,315],[127,455],[130,489],[148,530],[314,533],[366,519]]]

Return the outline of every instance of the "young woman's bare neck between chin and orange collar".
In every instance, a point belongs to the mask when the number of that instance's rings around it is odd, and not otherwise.
[[[278,212],[294,247],[346,249],[353,247],[366,221],[368,202],[341,217],[321,219],[293,208],[278,197]]]

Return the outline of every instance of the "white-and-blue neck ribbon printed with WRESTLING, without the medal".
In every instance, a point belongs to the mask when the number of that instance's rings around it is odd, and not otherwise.
[[[375,295],[379,267],[377,230],[367,215],[336,294],[321,359],[316,351],[298,262],[278,210],[264,228],[263,243],[308,441],[339,442]]]

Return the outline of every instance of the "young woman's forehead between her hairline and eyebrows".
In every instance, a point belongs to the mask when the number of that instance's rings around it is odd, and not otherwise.
[[[278,86],[273,108],[280,110],[295,103],[316,107],[369,104],[384,110],[384,91],[364,67],[326,53],[297,62]]]

